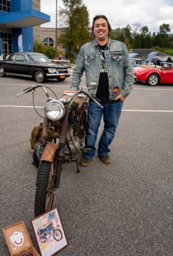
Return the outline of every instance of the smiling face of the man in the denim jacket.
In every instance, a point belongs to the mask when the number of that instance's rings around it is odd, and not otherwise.
[[[97,41],[104,41],[108,38],[109,28],[107,21],[103,18],[97,19],[94,22],[93,33]]]

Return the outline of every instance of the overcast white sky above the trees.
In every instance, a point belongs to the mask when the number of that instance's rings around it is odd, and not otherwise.
[[[57,3],[58,8],[63,7],[61,0]],[[95,15],[104,14],[112,28],[141,23],[141,27],[147,25],[149,31],[156,32],[166,23],[173,33],[173,0],[83,0],[83,3],[89,11],[90,24]],[[56,27],[56,0],[41,0],[41,11],[51,18],[50,23],[42,26]]]

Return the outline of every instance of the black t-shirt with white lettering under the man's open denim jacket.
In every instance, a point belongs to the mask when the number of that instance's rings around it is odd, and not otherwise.
[[[101,53],[101,65],[100,65],[99,85],[97,88],[96,97],[99,98],[99,100],[102,103],[106,103],[107,101],[109,101],[109,80],[107,76],[105,52],[104,52],[107,44],[105,44],[104,46],[100,46],[100,44],[98,45]]]

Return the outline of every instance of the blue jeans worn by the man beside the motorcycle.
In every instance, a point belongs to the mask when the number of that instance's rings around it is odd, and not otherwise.
[[[118,101],[117,103],[105,103],[102,105],[103,108],[100,108],[99,105],[94,103],[94,101],[89,101],[84,148],[91,148],[91,150],[84,152],[83,158],[92,159],[96,152],[95,144],[102,116],[105,126],[102,136],[99,140],[97,153],[98,155],[107,155],[107,153],[110,152],[108,146],[115,136],[115,131],[122,111],[123,102]]]

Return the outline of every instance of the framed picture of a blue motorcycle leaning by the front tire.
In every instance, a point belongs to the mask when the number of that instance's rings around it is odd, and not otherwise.
[[[31,219],[40,254],[51,256],[67,247],[67,238],[57,208]]]

